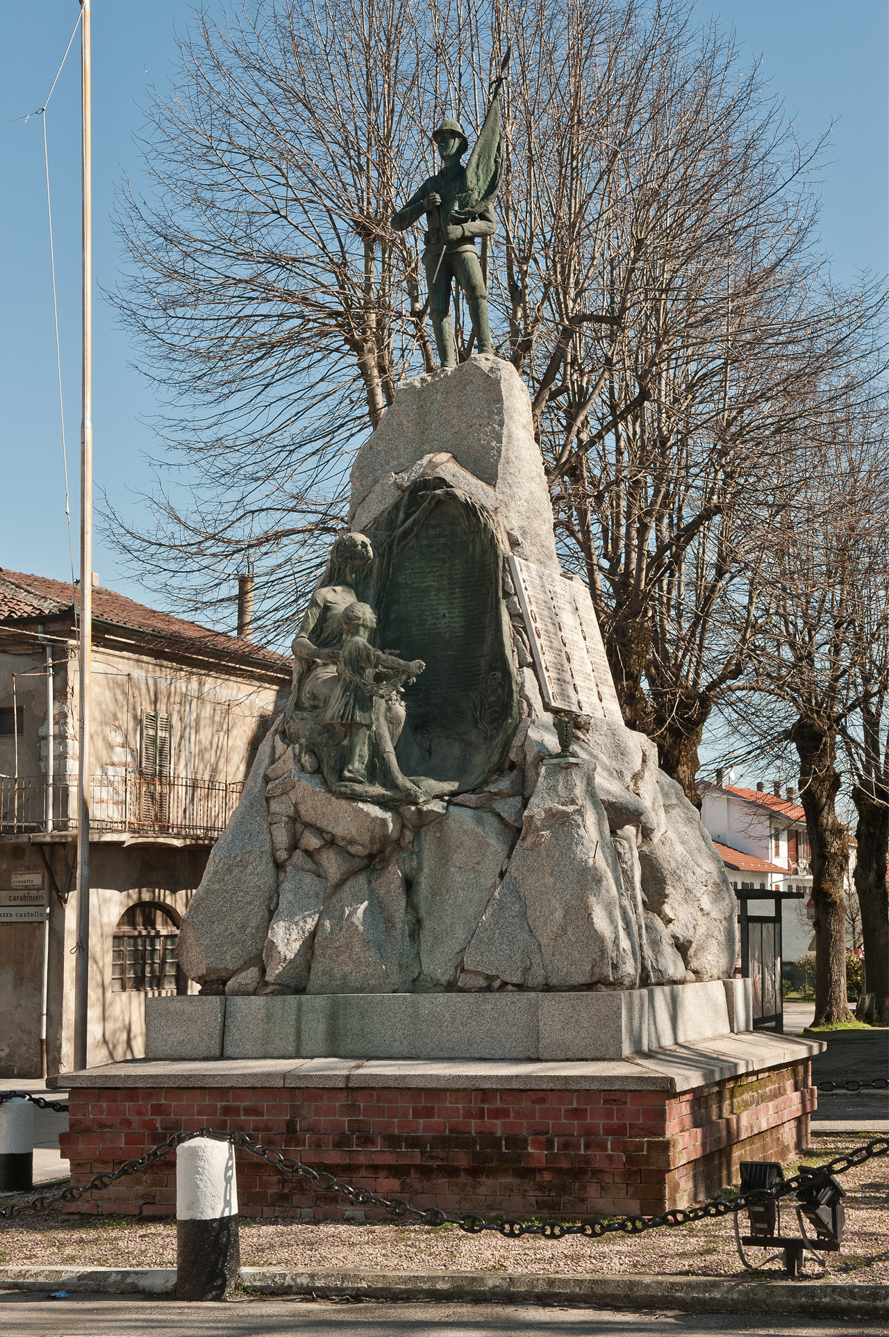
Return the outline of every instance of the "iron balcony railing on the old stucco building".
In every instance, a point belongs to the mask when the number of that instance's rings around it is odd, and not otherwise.
[[[94,775],[90,781],[90,830],[213,840],[222,834],[242,789],[242,782],[188,777],[158,779],[138,771]],[[76,829],[76,782],[60,775],[52,785],[47,775],[0,777],[0,836]]]

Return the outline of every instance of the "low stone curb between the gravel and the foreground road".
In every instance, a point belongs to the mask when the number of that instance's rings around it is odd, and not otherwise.
[[[488,1271],[299,1271],[242,1267],[257,1296],[358,1300],[449,1300],[602,1309],[678,1309],[707,1313],[782,1312],[834,1318],[882,1318],[889,1286],[765,1277],[552,1275]],[[175,1296],[175,1267],[0,1267],[0,1289],[154,1298]]]

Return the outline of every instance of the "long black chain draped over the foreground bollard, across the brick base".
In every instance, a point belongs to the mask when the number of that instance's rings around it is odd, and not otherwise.
[[[198,1128],[197,1132],[175,1132],[166,1142],[159,1142],[151,1151],[146,1151],[138,1161],[126,1161],[118,1170],[94,1175],[90,1183],[82,1187],[72,1186],[64,1189],[52,1198],[40,1197],[27,1203],[13,1203],[0,1210],[0,1219],[11,1219],[21,1211],[48,1211],[56,1203],[78,1202],[83,1198],[84,1193],[90,1193],[94,1189],[107,1189],[116,1179],[123,1179],[124,1175],[147,1170],[155,1161],[170,1155],[178,1146],[183,1142],[190,1142],[193,1138],[213,1138],[214,1142],[230,1142],[242,1151],[249,1151],[251,1155],[259,1157],[283,1174],[295,1174],[301,1179],[307,1179],[321,1193],[342,1194],[357,1207],[382,1207],[390,1217],[397,1219],[410,1217],[418,1225],[425,1226],[444,1226],[445,1223],[460,1226],[461,1230],[465,1230],[471,1235],[481,1234],[484,1230],[496,1230],[508,1239],[520,1239],[521,1235],[543,1235],[544,1239],[563,1239],[565,1235],[587,1235],[598,1239],[602,1235],[615,1233],[640,1235],[644,1230],[655,1230],[658,1226],[684,1226],[691,1221],[727,1217],[731,1213],[745,1211],[749,1207],[762,1205],[770,1198],[783,1198],[789,1193],[795,1193],[803,1185],[806,1189],[817,1187],[818,1183],[829,1179],[830,1175],[845,1174],[848,1170],[865,1165],[876,1157],[889,1155],[889,1138],[874,1138],[873,1142],[854,1147],[853,1151],[844,1157],[834,1157],[826,1165],[803,1169],[793,1175],[793,1178],[785,1179],[783,1183],[774,1187],[755,1189],[750,1193],[739,1194],[737,1198],[711,1198],[699,1207],[678,1207],[664,1211],[658,1217],[618,1217],[608,1221],[594,1217],[576,1223],[565,1223],[563,1221],[516,1221],[515,1218],[495,1222],[484,1221],[483,1217],[475,1214],[455,1217],[447,1211],[441,1211],[440,1207],[412,1207],[404,1198],[382,1198],[372,1193],[370,1189],[344,1183],[333,1174],[311,1170],[309,1166],[303,1166],[301,1161],[285,1157],[282,1151],[263,1147],[261,1142],[249,1138],[246,1132],[219,1132],[217,1128]]]

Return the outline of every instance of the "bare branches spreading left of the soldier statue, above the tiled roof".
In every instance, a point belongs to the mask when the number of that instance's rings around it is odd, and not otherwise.
[[[155,90],[155,190],[123,199],[120,306],[171,400],[163,432],[186,476],[159,477],[147,532],[114,525],[205,616],[245,567],[259,567],[266,624],[291,616],[294,583],[342,524],[350,445],[392,402],[413,336],[432,366],[417,254],[385,226],[428,170],[416,11],[202,11],[172,92]]]

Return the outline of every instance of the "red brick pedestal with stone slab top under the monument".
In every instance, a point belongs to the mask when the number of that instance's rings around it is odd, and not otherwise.
[[[209,1126],[418,1207],[651,1214],[737,1181],[739,1161],[786,1161],[805,1147],[819,1048],[759,1034],[723,1038],[723,1052],[713,1040],[619,1064],[119,1063],[57,1079],[71,1107],[61,1154],[84,1185],[172,1131]],[[238,1201],[251,1217],[354,1215],[342,1198],[241,1152]],[[172,1213],[175,1158],[68,1210]]]

